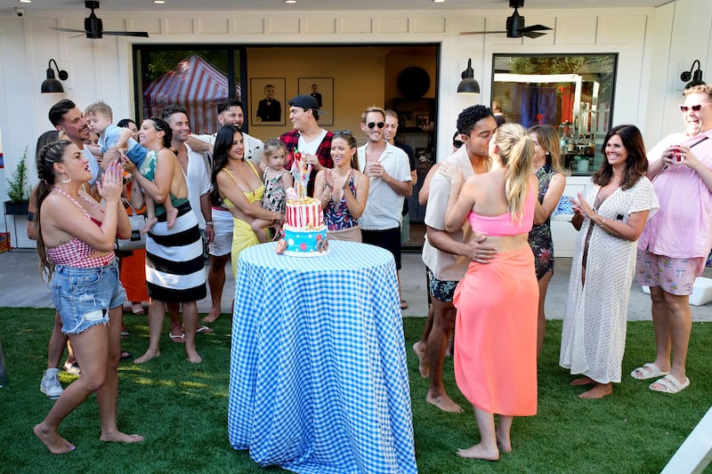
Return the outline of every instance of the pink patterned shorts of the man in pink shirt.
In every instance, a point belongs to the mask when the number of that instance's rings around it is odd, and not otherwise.
[[[704,269],[704,257],[674,259],[640,249],[635,262],[638,283],[659,286],[664,292],[677,295],[692,294],[695,278]]]

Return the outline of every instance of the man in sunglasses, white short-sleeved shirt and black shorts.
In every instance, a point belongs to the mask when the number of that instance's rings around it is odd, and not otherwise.
[[[403,200],[413,193],[408,156],[384,140],[385,111],[369,107],[361,114],[366,145],[358,150],[360,171],[370,178],[366,208],[359,219],[364,244],[393,254],[401,269],[401,218]],[[399,278],[399,293],[401,283]]]

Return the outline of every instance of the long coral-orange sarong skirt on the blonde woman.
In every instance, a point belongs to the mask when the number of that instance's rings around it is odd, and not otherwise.
[[[455,380],[492,414],[537,414],[538,284],[530,247],[470,263],[453,303]]]

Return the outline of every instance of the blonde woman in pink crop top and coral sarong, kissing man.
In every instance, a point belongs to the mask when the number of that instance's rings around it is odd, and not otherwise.
[[[480,443],[458,451],[496,461],[512,450],[514,416],[537,413],[537,301],[534,255],[528,242],[537,178],[531,173],[534,145],[522,125],[505,124],[490,141],[490,171],[463,183],[449,164],[445,229],[469,219],[498,249],[488,264],[470,263],[455,290],[455,378],[472,404]],[[494,414],[499,423],[495,430]]]

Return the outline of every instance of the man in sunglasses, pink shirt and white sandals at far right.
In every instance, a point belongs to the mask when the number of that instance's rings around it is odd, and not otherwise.
[[[657,356],[631,376],[656,379],[650,389],[666,393],[690,385],[685,374],[690,294],[712,248],[712,86],[695,85],[684,95],[685,132],[648,152],[648,177],[660,210],[638,239],[636,268],[638,282],[651,288]]]

